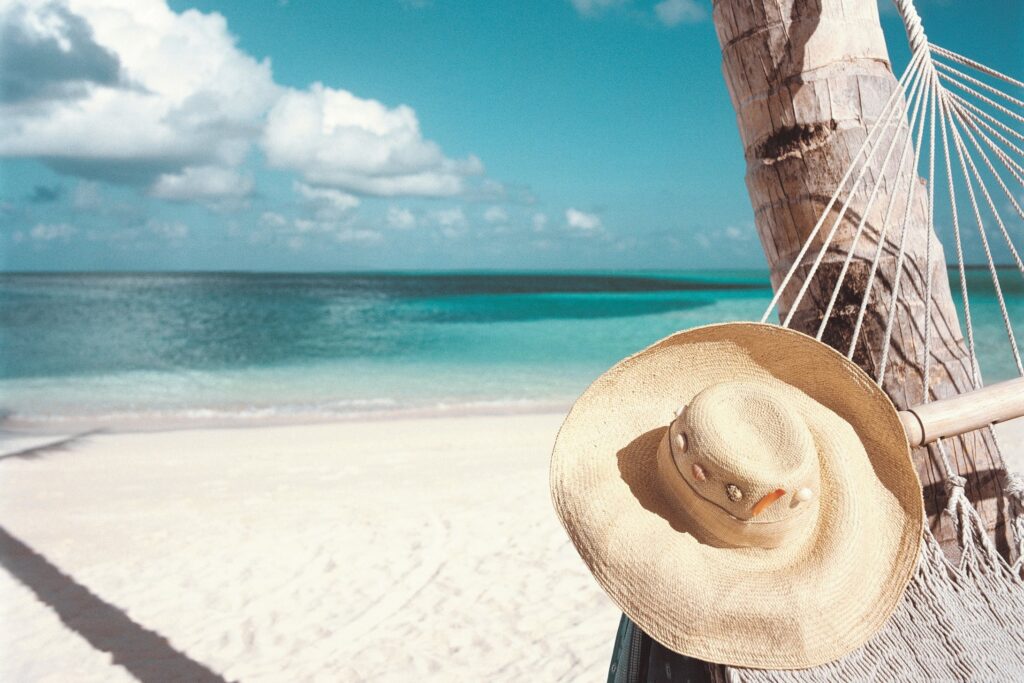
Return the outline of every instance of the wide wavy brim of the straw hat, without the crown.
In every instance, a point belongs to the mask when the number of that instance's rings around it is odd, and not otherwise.
[[[772,385],[814,423],[820,505],[797,543],[711,545],[660,480],[674,411],[736,380]],[[757,669],[813,667],[866,642],[910,581],[924,528],[885,392],[811,337],[754,323],[672,335],[604,373],[558,433],[551,490],[580,555],[635,624],[676,652]]]

